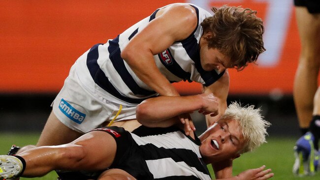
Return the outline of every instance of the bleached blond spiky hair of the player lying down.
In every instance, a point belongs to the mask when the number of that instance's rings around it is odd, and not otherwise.
[[[271,125],[261,116],[260,108],[255,109],[254,105],[241,107],[237,102],[232,102],[228,106],[220,120],[238,121],[246,143],[239,153],[253,151],[265,143],[265,136],[268,135],[266,129]]]

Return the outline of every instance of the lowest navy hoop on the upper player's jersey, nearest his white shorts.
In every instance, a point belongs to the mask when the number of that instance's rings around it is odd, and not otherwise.
[[[116,88],[109,82],[108,78],[105,76],[104,72],[100,69],[99,64],[97,63],[97,59],[99,58],[99,52],[98,52],[98,46],[101,44],[96,44],[93,46],[87,56],[87,67],[89,69],[89,72],[91,74],[91,77],[95,81],[95,83],[102,88],[103,90],[106,90],[113,96],[127,101],[129,103],[133,104],[139,104],[141,103],[144,99],[134,99],[134,98],[129,98],[126,96],[123,96]]]

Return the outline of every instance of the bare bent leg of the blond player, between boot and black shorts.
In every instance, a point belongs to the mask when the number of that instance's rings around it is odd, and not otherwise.
[[[97,153],[97,147],[103,153]],[[69,144],[26,150],[19,154],[26,161],[22,177],[40,177],[55,169],[103,170],[112,164],[116,150],[114,138],[102,131],[89,132]]]

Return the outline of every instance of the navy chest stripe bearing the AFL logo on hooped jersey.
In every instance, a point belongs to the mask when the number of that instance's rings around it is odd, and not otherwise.
[[[166,56],[168,56],[168,59],[163,58],[163,53],[166,54]],[[162,56],[161,56],[162,55]],[[161,61],[161,63],[164,65],[165,68],[167,68],[172,74],[174,74],[175,76],[183,79],[184,81],[191,81],[191,74],[190,72],[186,72],[185,70],[183,70],[181,68],[181,66],[177,63],[177,61],[173,58],[171,52],[169,49],[167,49],[166,51],[163,51],[162,53],[158,54],[159,59]],[[170,63],[167,63],[165,60],[170,60]]]

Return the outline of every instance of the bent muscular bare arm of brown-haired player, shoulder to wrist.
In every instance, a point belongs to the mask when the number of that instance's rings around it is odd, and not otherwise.
[[[196,12],[190,5],[173,4],[160,9],[156,18],[130,40],[121,57],[144,83],[160,95],[179,96],[159,71],[153,55],[163,52],[175,41],[187,38],[196,24]]]

